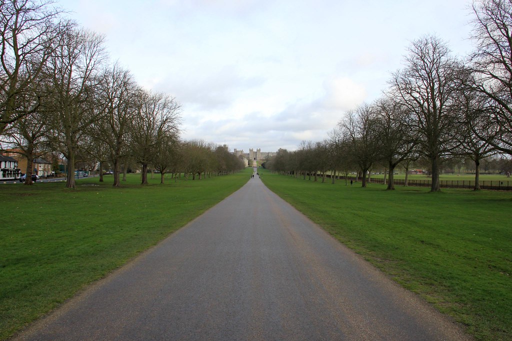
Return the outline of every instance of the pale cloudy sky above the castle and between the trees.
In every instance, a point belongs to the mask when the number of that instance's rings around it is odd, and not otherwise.
[[[58,1],[58,0],[57,0]],[[473,49],[470,0],[60,0],[112,62],[181,104],[181,137],[295,150],[371,103],[411,42]]]

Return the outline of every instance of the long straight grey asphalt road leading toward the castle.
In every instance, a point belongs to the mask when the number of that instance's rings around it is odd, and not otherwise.
[[[256,177],[16,339],[468,338]]]

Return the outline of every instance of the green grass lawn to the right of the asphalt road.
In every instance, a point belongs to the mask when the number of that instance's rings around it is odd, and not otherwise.
[[[512,193],[386,191],[264,172],[272,191],[468,333],[512,339]]]

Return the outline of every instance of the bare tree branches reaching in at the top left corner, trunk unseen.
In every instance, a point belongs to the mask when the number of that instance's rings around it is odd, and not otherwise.
[[[37,110],[41,104],[38,81],[62,32],[60,11],[52,1],[0,2],[0,134],[9,123]],[[29,102],[23,103],[28,97]],[[30,105],[28,105],[30,104]]]

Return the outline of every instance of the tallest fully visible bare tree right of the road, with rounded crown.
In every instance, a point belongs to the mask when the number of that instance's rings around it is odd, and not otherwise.
[[[458,65],[446,43],[435,36],[413,41],[407,66],[390,81],[392,92],[414,116],[419,146],[432,167],[431,191],[440,191],[440,163],[453,146],[454,108]]]

